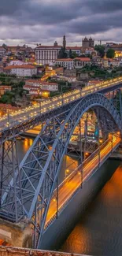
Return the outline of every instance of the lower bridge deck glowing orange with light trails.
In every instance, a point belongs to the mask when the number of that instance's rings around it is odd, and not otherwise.
[[[113,150],[116,150],[116,147],[120,144],[120,138],[116,135],[113,135]],[[102,147],[100,150],[100,165],[109,158],[109,154],[112,152],[112,139],[108,139],[105,147]],[[94,170],[98,169],[99,164],[99,155],[96,151],[94,158],[90,158],[89,161],[86,161],[86,164],[83,165],[83,183],[94,173]],[[59,213],[62,208],[65,207],[66,203],[72,198],[76,191],[81,187],[81,173],[79,169],[75,170],[72,175],[66,179],[66,181],[59,187],[58,191],[58,210]],[[50,202],[50,208],[46,217],[45,229],[54,221],[57,213],[57,202],[52,198]]]

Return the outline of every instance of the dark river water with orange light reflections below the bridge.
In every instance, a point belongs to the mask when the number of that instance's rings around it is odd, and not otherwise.
[[[31,143],[32,139],[18,141],[20,160]],[[76,163],[73,167],[76,168]],[[102,168],[106,169],[104,186],[99,185],[98,195],[79,220],[72,220],[74,228],[70,234],[64,235],[64,243],[57,250],[122,256],[122,161],[108,160]],[[63,176],[65,173],[61,179]]]

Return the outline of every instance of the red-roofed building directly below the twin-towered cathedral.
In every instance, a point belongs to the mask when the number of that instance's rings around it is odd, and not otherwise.
[[[85,65],[91,65],[91,59],[87,58],[87,57],[84,57],[84,58],[80,58],[80,57],[74,58],[73,62],[74,62],[73,66],[76,69],[83,68]]]

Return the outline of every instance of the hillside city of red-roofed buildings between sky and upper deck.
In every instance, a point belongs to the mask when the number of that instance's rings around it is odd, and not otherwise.
[[[122,44],[94,39],[82,40],[81,46],[37,44],[0,46],[1,116],[45,98],[74,88],[97,84],[121,76]]]

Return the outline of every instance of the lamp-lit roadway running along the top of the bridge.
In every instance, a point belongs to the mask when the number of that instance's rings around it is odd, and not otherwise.
[[[117,85],[122,83],[122,76],[117,77],[113,80],[105,80],[101,83],[95,85],[90,85],[84,87],[82,90],[73,90],[65,93],[63,95],[59,95],[57,97],[47,99],[45,102],[41,102],[35,106],[29,106],[25,109],[17,110],[15,113],[10,113],[6,115],[6,117],[0,118],[0,132],[2,132],[6,128],[13,128],[16,125],[24,124],[28,121],[31,121],[38,115],[47,113],[52,111],[53,109],[57,109],[58,107],[65,106],[70,102],[76,101],[76,99],[83,98],[84,96],[102,91],[105,88],[113,87],[113,85]]]

